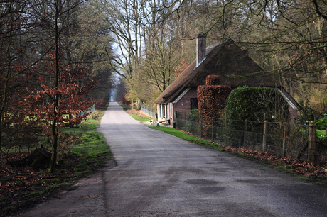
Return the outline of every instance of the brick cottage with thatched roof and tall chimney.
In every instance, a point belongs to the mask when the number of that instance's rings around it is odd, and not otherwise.
[[[291,120],[299,104],[287,91],[274,82],[274,78],[262,72],[248,55],[231,41],[225,41],[206,47],[206,38],[200,33],[196,39],[196,60],[154,101],[157,104],[158,121],[168,121],[173,125],[175,114],[189,113],[197,109],[197,87],[205,84],[210,74],[220,76],[220,84],[229,85],[232,89],[241,86],[277,87],[279,93],[289,103]]]

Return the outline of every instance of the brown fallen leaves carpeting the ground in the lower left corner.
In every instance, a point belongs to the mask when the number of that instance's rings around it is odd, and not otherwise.
[[[19,159],[18,154],[9,153],[9,160]],[[0,210],[14,208],[13,211],[29,208],[34,204],[45,201],[53,194],[51,185],[74,179],[74,168],[79,158],[68,159],[68,165],[58,167],[55,174],[48,174],[43,169],[31,166],[11,167],[6,164],[6,155],[0,154]],[[52,189],[52,190],[50,190]],[[0,213],[0,216],[2,214]]]

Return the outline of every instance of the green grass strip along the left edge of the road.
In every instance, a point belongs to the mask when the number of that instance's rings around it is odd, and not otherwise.
[[[65,160],[62,159],[60,166],[56,168],[58,172],[55,174],[49,174],[48,171],[42,170],[41,174],[50,175],[51,178],[36,182],[34,185],[36,188],[32,191],[18,191],[17,194],[19,194],[21,204],[38,203],[43,200],[43,196],[50,196],[55,192],[67,189],[67,187],[75,184],[78,179],[97,171],[98,168],[105,165],[107,160],[112,158],[112,153],[102,133],[96,131],[104,111],[105,109],[92,113],[78,127],[61,129],[60,135],[62,137],[60,138],[59,148],[64,147],[65,150],[58,149],[58,151],[62,156],[65,156]],[[41,140],[46,142],[45,137],[41,138]],[[16,181],[17,184],[23,184],[23,182],[25,181]],[[8,197],[2,198],[0,202],[4,203],[6,201],[8,202]],[[21,208],[11,205],[8,203],[8,205],[3,206],[0,216],[8,216],[17,208]]]

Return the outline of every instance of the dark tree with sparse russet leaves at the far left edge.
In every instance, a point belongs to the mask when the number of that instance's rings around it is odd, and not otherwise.
[[[19,116],[17,100],[28,83],[23,81],[24,73],[43,57],[33,56],[40,33],[32,13],[35,6],[38,2],[29,0],[0,2],[0,150],[4,126],[11,126]]]

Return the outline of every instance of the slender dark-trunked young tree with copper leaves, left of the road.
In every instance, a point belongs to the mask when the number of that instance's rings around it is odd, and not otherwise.
[[[43,30],[39,37],[44,41],[44,45],[50,48],[51,52],[48,59],[44,61],[53,62],[53,70],[45,69],[36,72],[36,77],[42,75],[41,79],[41,91],[48,95],[53,106],[53,113],[50,116],[51,123],[51,135],[52,135],[52,157],[50,160],[50,172],[55,171],[55,165],[57,161],[58,153],[58,133],[60,127],[60,120],[63,118],[63,113],[60,111],[60,87],[63,85],[60,72],[63,69],[60,65],[70,65],[72,67],[72,59],[70,51],[68,50],[71,42],[71,29],[76,23],[70,22],[70,18],[74,19],[75,13],[79,9],[79,6],[83,3],[81,0],[48,0],[43,1],[43,4],[39,4],[34,7],[34,13],[36,16],[36,22],[42,21],[40,28]],[[63,52],[66,50],[66,52]],[[65,54],[66,59],[62,58]],[[68,61],[67,61],[68,60]],[[73,68],[73,67],[72,67]],[[50,73],[53,72],[53,73]],[[40,74],[43,73],[43,74]],[[74,77],[74,71],[71,71],[66,76]],[[46,87],[51,87],[50,90]],[[48,92],[50,91],[50,93]]]

